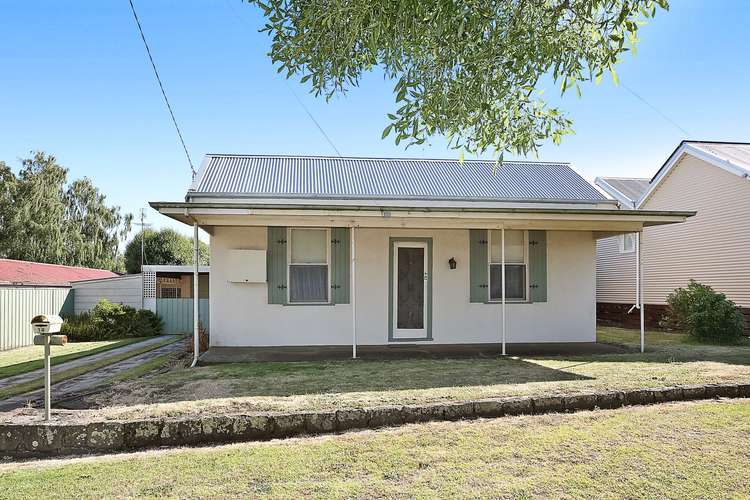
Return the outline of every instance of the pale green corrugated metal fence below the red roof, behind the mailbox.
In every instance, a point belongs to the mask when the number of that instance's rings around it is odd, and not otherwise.
[[[31,345],[31,318],[73,314],[73,290],[31,286],[0,287],[0,351]]]

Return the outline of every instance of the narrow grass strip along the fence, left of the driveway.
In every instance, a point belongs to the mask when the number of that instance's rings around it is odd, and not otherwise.
[[[102,340],[97,342],[71,342],[64,346],[53,346],[50,362],[52,366],[91,356],[100,352],[117,349],[148,337],[134,337],[119,340]],[[20,375],[44,368],[44,348],[38,345],[19,347],[0,352],[0,379]]]

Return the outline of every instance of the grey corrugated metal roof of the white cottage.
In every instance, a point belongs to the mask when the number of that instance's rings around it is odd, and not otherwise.
[[[566,163],[310,156],[207,155],[192,191],[269,198],[605,200]]]

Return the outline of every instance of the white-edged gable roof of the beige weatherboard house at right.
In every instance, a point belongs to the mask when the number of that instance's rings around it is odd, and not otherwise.
[[[750,179],[750,143],[682,141],[651,178],[649,187],[641,197],[638,207],[646,203],[685,155],[703,160],[743,179]]]

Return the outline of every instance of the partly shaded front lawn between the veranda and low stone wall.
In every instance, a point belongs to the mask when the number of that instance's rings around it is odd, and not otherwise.
[[[637,332],[602,329],[603,339]],[[673,334],[669,334],[673,335]],[[175,368],[90,400],[93,419],[429,404],[505,396],[750,381],[750,346],[672,337],[622,354],[230,363]]]

